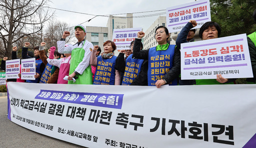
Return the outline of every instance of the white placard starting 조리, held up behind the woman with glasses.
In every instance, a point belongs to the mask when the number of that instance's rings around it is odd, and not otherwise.
[[[141,30],[142,28],[114,29],[112,41],[115,43],[116,49],[130,49],[130,42],[135,40],[138,31]]]

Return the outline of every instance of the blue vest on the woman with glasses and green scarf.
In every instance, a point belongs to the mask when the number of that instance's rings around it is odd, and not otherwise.
[[[171,69],[174,56],[175,45],[169,45],[166,50],[156,51],[156,47],[152,47],[148,51],[148,71],[147,84],[155,86],[157,80],[161,80],[163,76]],[[174,79],[169,85],[177,85]]]

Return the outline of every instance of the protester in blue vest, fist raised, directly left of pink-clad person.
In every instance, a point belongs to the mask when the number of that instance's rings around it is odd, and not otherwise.
[[[57,79],[58,79],[58,71],[59,68],[58,67],[53,67],[53,65],[49,64],[47,62],[47,57],[45,55],[44,52],[44,46],[46,45],[45,42],[41,42],[40,47],[39,47],[39,56],[40,59],[42,60],[42,62],[46,65],[44,68],[44,71],[42,73],[42,76],[40,78],[40,82],[39,83],[49,83],[49,84],[56,84],[57,83]],[[50,47],[53,48],[53,47]],[[55,48],[55,47],[54,47]],[[49,53],[49,49],[48,49],[48,53]],[[55,59],[59,59],[60,57],[60,53],[58,53],[57,51],[54,54],[54,58]]]

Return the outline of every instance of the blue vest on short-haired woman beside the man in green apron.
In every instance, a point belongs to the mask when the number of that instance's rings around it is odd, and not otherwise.
[[[103,59],[101,56],[97,57],[97,67],[94,75],[93,84],[114,85],[115,59],[116,56],[108,59]]]

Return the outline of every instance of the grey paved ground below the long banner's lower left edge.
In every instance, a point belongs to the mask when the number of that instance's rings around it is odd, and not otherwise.
[[[27,130],[6,114],[7,96],[0,96],[0,148],[85,148]]]

